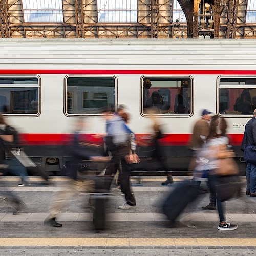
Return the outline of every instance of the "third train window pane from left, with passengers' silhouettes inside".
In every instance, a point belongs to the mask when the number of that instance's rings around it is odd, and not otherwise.
[[[142,81],[143,114],[152,106],[158,114],[191,114],[191,77],[144,77]]]

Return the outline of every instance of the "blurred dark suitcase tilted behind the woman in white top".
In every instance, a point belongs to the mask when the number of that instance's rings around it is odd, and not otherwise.
[[[162,209],[167,218],[174,222],[188,203],[194,201],[198,195],[198,187],[191,180],[180,182],[164,201]]]

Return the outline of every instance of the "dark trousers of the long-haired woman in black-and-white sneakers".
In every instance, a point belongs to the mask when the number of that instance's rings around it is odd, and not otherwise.
[[[217,203],[217,210],[218,210],[218,214],[219,214],[219,218],[220,218],[220,222],[225,221],[225,217],[224,217],[224,205],[223,202],[218,198],[217,195],[217,186],[219,184],[218,182],[219,177],[217,175],[212,175],[212,174],[208,174],[208,184],[209,184],[209,189],[212,195],[212,199],[215,199],[214,202]]]

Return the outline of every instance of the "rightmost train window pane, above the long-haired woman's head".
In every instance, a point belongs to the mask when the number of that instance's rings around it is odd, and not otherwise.
[[[218,79],[218,113],[220,115],[251,115],[254,109],[256,109],[256,78]]]

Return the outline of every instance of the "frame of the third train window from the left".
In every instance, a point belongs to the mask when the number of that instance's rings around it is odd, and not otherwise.
[[[194,78],[191,75],[143,75],[140,78],[140,115],[143,117],[149,117],[149,114],[143,112],[143,80],[145,78],[177,78],[177,79],[190,79],[190,113],[189,114],[175,114],[175,113],[159,113],[154,114],[157,117],[167,118],[189,118],[194,115]],[[171,102],[172,104],[172,102]],[[173,112],[173,111],[172,111]]]

